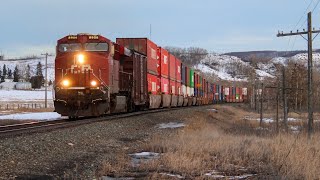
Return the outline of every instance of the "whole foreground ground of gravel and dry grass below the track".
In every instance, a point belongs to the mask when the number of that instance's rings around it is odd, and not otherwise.
[[[289,115],[293,116],[299,119],[305,114]],[[0,179],[318,177],[316,170],[305,171],[313,174],[308,177],[295,169],[296,163],[283,164],[288,147],[306,142],[305,123],[289,124],[302,126],[297,140],[294,133],[277,136],[275,123],[259,127],[258,118],[258,113],[240,104],[210,105],[1,139]],[[163,123],[184,127],[160,128]],[[300,151],[314,151],[308,148],[293,150],[286,158],[292,156],[296,162]],[[139,152],[160,155],[137,165],[130,154]],[[307,167],[302,162],[297,166]]]

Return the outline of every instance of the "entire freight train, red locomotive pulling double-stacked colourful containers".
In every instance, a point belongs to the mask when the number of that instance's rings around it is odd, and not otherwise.
[[[54,106],[70,119],[142,109],[243,102],[147,38],[68,35],[56,46]]]

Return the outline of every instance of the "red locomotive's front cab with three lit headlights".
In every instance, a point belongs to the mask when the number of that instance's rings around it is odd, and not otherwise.
[[[69,35],[60,40],[55,59],[55,111],[69,118],[110,111],[113,44],[100,35]]]

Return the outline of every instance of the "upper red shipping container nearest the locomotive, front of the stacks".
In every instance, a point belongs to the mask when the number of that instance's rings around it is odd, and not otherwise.
[[[117,38],[117,44],[147,55],[148,73],[158,75],[157,45],[148,38]]]

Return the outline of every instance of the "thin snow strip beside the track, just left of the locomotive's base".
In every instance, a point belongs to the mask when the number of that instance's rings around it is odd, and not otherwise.
[[[0,120],[56,120],[61,119],[61,115],[56,112],[21,113],[0,115]]]

